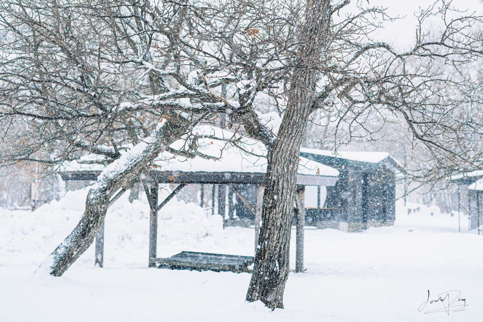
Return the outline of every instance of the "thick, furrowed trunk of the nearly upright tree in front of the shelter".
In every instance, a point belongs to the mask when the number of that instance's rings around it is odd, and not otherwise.
[[[262,225],[246,300],[261,300],[267,307],[284,308],[289,272],[289,247],[300,144],[315,99],[317,65],[327,39],[330,0],[308,0],[300,37],[300,68],[292,79],[288,105],[277,135],[269,147]]]

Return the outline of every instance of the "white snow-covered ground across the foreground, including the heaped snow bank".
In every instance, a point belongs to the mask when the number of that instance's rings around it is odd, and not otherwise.
[[[63,277],[33,274],[77,224],[86,193],[69,192],[34,212],[0,210],[0,321],[482,321],[483,235],[468,232],[463,216],[458,233],[457,213],[418,204],[398,204],[391,227],[307,228],[307,271],[290,274],[285,309],[273,312],[244,302],[248,273],[147,268],[147,202],[130,204],[127,194],[106,217],[104,268],[93,267],[91,247]],[[158,225],[158,256],[253,254],[253,229],[223,230],[221,218],[175,198]],[[428,290],[430,299],[460,291],[468,306],[424,314],[442,307],[418,310]]]

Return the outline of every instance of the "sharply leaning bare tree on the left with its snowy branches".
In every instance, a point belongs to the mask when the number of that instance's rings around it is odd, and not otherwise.
[[[224,77],[203,76],[217,66],[184,45],[188,14],[173,2],[0,5],[0,119],[11,146],[1,151],[3,164],[55,168],[90,153],[98,155],[90,162],[109,165],[80,223],[46,262],[52,275],[92,243],[117,190],[139,180],[173,141],[184,136],[196,148],[193,126],[234,104],[211,90]]]

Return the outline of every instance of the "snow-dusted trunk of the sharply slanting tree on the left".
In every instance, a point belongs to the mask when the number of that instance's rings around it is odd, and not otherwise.
[[[139,180],[140,174],[151,165],[158,154],[184,133],[183,128],[174,128],[170,122],[165,121],[155,137],[144,139],[107,166],[87,194],[84,215],[79,224],[44,260],[41,267],[50,270],[50,275],[61,276],[94,241],[114,193]]]

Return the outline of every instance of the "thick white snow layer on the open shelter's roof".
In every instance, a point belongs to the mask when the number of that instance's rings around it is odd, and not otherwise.
[[[257,140],[242,137],[238,133],[219,127],[202,125],[193,130],[193,134],[202,136],[198,140],[198,152],[215,159],[195,156],[188,158],[174,155],[168,151],[159,154],[154,164],[157,171],[184,171],[184,172],[267,172],[267,149]],[[227,140],[236,140],[233,145]],[[185,140],[177,140],[170,145],[176,150],[184,150]],[[87,155],[77,161],[66,162],[60,169],[63,171],[99,171],[105,166],[101,164],[83,164],[86,160],[96,160],[98,156]],[[338,177],[337,169],[321,163],[300,157],[298,163],[299,175]]]

